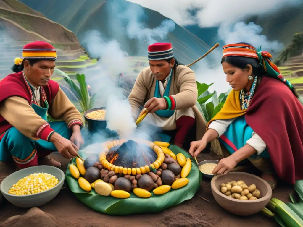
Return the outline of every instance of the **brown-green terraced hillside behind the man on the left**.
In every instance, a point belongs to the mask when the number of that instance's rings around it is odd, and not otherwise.
[[[32,41],[46,41],[57,50],[57,67],[75,74],[96,64],[79,44],[75,34],[16,0],[0,0],[0,79],[12,73],[16,57]]]

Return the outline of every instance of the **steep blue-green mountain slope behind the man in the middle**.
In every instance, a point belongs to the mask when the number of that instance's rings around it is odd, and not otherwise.
[[[145,40],[128,38],[125,22],[119,16],[134,3],[124,0],[20,0],[29,7],[41,12],[47,18],[56,21],[73,31],[84,46],[85,33],[91,30],[100,31],[107,40],[115,39],[122,50],[130,55],[146,56],[148,43]],[[113,7],[113,4],[115,5]],[[143,8],[142,24],[145,28],[156,28],[168,18],[156,11]],[[117,7],[118,6],[118,7]],[[135,12],[134,12],[135,14]],[[117,26],[120,24],[121,26]],[[174,31],[167,38],[153,37],[156,41],[171,42],[176,58],[189,64],[199,58],[210,48],[205,42],[188,30],[175,25]]]

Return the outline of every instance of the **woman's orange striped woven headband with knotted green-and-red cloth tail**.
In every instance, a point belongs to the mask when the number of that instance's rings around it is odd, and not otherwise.
[[[278,67],[271,62],[272,55],[267,51],[261,51],[261,46],[258,50],[253,46],[246,44],[228,44],[223,46],[222,58],[230,56],[258,59],[259,64],[264,68],[265,72],[267,72],[271,77],[277,78],[281,82],[285,83],[292,91],[295,90],[294,86],[281,75]]]

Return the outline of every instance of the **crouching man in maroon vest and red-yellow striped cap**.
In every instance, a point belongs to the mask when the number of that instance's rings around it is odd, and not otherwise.
[[[56,50],[43,41],[26,44],[15,72],[0,81],[0,161],[11,158],[18,168],[37,165],[60,167],[47,158],[53,151],[76,156],[83,144],[82,117],[59,84],[50,80]],[[61,121],[47,122],[47,114]]]

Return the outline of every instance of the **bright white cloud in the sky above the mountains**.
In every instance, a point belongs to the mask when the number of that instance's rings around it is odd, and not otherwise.
[[[158,11],[178,25],[198,24],[200,27],[218,26],[221,22],[238,22],[245,17],[276,11],[285,5],[302,0],[127,0]],[[246,2],[246,3],[245,3]],[[195,16],[190,11],[197,9]]]

